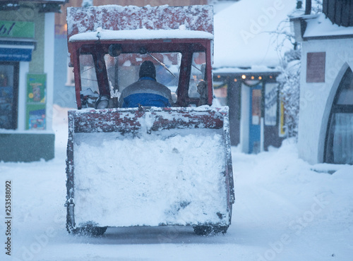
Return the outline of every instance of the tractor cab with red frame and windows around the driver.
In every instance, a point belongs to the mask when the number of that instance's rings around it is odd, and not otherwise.
[[[179,26],[172,30],[95,28],[68,35],[78,109],[118,107],[119,93],[138,80],[143,61],[155,64],[156,80],[172,91],[174,106],[211,105],[211,32]],[[202,90],[197,88],[199,83]]]

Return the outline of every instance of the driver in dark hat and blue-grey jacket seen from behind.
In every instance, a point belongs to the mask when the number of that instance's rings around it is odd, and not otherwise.
[[[138,81],[128,85],[119,98],[119,107],[132,108],[140,106],[171,107],[172,93],[168,87],[157,83],[155,65],[144,61],[140,66]]]

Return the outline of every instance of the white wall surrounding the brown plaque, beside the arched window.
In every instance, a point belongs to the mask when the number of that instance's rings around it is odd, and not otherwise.
[[[306,83],[308,52],[325,52],[325,82]],[[311,40],[302,43],[298,149],[311,164],[323,162],[328,118],[337,87],[347,68],[353,68],[353,41]]]

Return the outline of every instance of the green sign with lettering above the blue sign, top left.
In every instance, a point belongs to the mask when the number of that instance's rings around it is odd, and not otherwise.
[[[34,38],[35,23],[0,20],[0,37]]]

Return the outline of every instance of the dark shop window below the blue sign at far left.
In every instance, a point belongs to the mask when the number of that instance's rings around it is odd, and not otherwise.
[[[16,129],[18,63],[0,62],[0,128]]]

